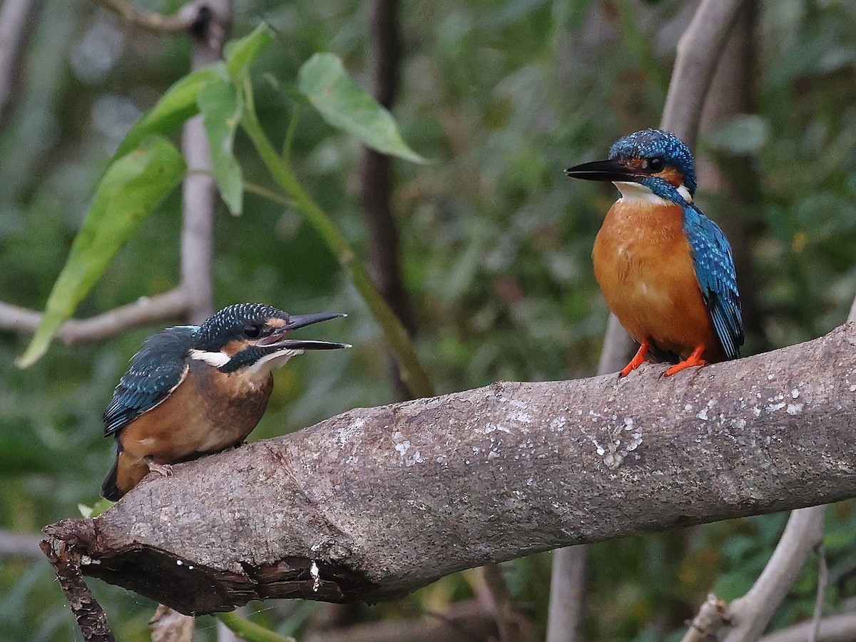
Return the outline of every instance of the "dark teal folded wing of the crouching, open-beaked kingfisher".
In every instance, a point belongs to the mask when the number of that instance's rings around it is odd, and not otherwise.
[[[196,330],[195,326],[169,328],[143,342],[104,409],[104,437],[157,406],[184,380],[187,348]]]

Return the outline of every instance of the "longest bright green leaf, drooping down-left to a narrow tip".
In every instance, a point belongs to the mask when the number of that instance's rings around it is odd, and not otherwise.
[[[181,153],[158,135],[146,138],[110,164],[54,283],[41,324],[18,366],[31,366],[45,354],[56,330],[72,315],[140,223],[181,180],[184,171]]]

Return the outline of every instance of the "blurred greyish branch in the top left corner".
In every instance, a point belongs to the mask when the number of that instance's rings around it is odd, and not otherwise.
[[[0,130],[15,102],[21,60],[42,0],[5,0],[0,7]]]

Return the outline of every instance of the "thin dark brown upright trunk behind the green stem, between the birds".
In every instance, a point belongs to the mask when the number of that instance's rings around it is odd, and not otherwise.
[[[372,94],[388,110],[395,103],[401,64],[401,36],[398,26],[399,0],[372,3]],[[413,312],[401,278],[398,253],[398,223],[390,205],[392,163],[389,156],[364,148],[360,164],[360,204],[369,230],[372,276],[377,290],[411,334]],[[413,398],[395,360],[389,360],[392,383],[398,400]]]

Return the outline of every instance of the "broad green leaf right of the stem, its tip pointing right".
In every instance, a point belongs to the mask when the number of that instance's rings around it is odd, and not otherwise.
[[[425,163],[401,138],[389,111],[354,84],[337,56],[315,54],[300,68],[298,78],[300,92],[330,125],[354,134],[378,152]]]

